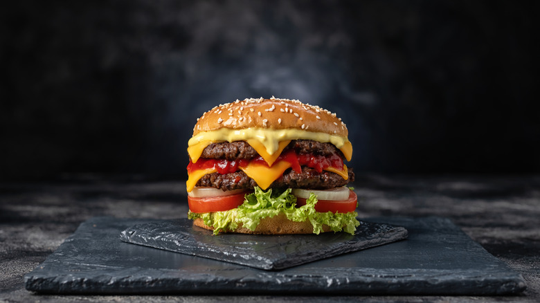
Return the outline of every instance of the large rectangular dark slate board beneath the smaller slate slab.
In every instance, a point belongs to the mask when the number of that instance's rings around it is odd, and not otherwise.
[[[152,219],[98,217],[81,224],[25,276],[39,293],[248,293],[280,295],[511,295],[518,273],[489,255],[448,219],[372,218],[404,226],[408,239],[268,271],[119,241]]]

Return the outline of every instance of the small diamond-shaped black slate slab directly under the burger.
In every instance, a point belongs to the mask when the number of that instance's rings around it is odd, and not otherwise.
[[[120,233],[120,240],[128,243],[265,270],[289,268],[406,237],[407,230],[400,226],[363,221],[354,235],[326,232],[321,235],[215,236],[210,230],[193,226],[189,219],[137,224]]]

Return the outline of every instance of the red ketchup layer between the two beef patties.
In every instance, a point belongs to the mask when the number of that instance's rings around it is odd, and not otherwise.
[[[317,172],[323,172],[323,169],[327,167],[334,167],[336,169],[343,169],[343,159],[338,154],[332,154],[332,156],[321,156],[314,154],[296,154],[294,150],[289,150],[285,153],[282,153],[275,163],[278,161],[287,161],[291,163],[291,168],[295,172],[300,174],[302,172],[302,166],[307,166],[315,169]],[[208,169],[215,168],[219,174],[229,174],[236,172],[238,167],[246,167],[250,161],[252,163],[257,163],[258,165],[266,165],[267,162],[261,157],[253,158],[251,160],[246,159],[237,159],[237,160],[225,160],[225,159],[209,159],[209,158],[199,158],[197,163],[188,164],[188,172],[191,173],[197,169]]]

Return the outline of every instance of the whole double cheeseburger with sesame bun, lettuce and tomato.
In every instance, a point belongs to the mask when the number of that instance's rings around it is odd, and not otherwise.
[[[357,195],[343,163],[352,145],[341,118],[287,99],[220,104],[197,119],[188,143],[188,218],[219,232],[349,232]]]

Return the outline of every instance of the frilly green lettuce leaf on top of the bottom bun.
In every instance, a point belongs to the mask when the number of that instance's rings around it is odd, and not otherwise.
[[[242,223],[242,226],[249,230],[255,230],[261,219],[274,217],[282,212],[291,221],[309,220],[314,234],[317,235],[323,231],[323,224],[330,226],[334,232],[343,231],[354,235],[354,231],[360,225],[356,219],[357,212],[344,214],[316,212],[316,203],[317,197],[311,194],[306,205],[296,208],[296,196],[291,194],[290,188],[287,190],[269,189],[264,192],[259,187],[255,187],[253,193],[246,194],[244,203],[238,208],[203,214],[188,212],[188,218],[201,218],[207,226],[213,226],[214,235],[217,235],[220,230],[235,230],[238,223]]]

